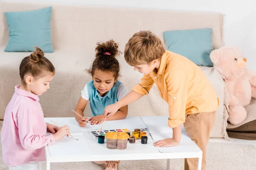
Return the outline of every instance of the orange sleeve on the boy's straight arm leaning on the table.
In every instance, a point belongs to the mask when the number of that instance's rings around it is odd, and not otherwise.
[[[177,127],[185,122],[186,98],[189,80],[184,71],[171,71],[166,76],[168,86],[169,127]]]

